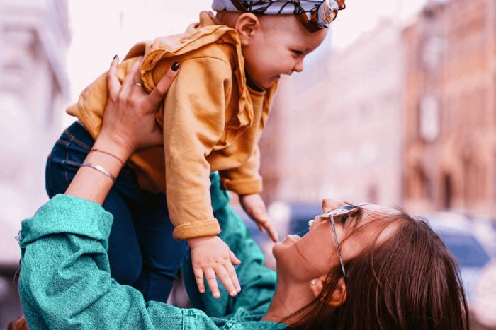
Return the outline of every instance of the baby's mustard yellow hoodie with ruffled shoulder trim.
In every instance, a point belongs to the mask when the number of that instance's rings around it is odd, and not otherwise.
[[[257,143],[266,123],[276,83],[264,92],[248,88],[236,30],[215,25],[211,13],[186,33],[141,42],[118,68],[123,81],[137,57],[140,75],[151,91],[175,61],[181,69],[156,115],[164,146],[135,153],[128,163],[140,187],[165,191],[174,237],[217,235],[220,227],[210,206],[210,172],[237,194],[261,191]],[[67,112],[96,139],[108,92],[103,74]]]

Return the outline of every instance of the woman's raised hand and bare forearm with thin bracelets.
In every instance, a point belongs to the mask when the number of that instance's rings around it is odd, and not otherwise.
[[[174,64],[157,87],[148,95],[137,86],[138,59],[121,86],[117,78],[115,57],[108,71],[108,102],[103,115],[101,132],[93,148],[79,168],[65,194],[102,204],[113,180],[118,177],[126,160],[140,148],[162,143],[162,133],[155,124],[155,111],[169,90],[179,64]],[[175,69],[175,70],[174,70]]]

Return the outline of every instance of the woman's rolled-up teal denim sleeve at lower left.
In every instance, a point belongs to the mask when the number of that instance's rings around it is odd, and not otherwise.
[[[57,195],[19,236],[19,292],[30,329],[218,329],[201,310],[145,302],[109,273],[112,216],[90,201]]]

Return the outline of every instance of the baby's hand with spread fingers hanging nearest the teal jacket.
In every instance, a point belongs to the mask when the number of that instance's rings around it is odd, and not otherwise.
[[[241,291],[241,286],[239,286],[235,267],[232,265],[239,265],[241,261],[237,259],[227,244],[217,236],[190,238],[188,244],[191,248],[193,273],[200,293],[205,293],[205,283],[203,282],[203,276],[205,276],[213,296],[215,298],[220,297],[219,287],[215,279],[215,275],[217,275],[227,292],[235,297]]]

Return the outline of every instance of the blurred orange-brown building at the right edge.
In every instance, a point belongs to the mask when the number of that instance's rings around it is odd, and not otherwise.
[[[404,31],[405,204],[496,214],[496,1],[429,1]]]

